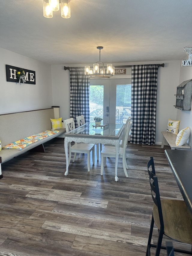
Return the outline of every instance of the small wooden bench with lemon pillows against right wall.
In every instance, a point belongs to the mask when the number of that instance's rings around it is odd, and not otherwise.
[[[166,141],[170,145],[171,149],[184,150],[184,149],[190,149],[191,148],[187,143],[185,143],[182,146],[176,146],[175,142],[176,142],[177,134],[173,134],[173,133],[170,133],[170,132],[167,132],[167,131],[162,131],[161,133],[163,134],[163,140],[162,140],[162,144],[161,144],[162,149],[164,148],[164,144],[165,144]]]

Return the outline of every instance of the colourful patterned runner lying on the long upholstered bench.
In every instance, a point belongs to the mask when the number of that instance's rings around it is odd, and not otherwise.
[[[32,144],[32,143],[34,143],[38,140],[42,140],[42,139],[44,139],[46,137],[49,137],[53,134],[56,134],[58,132],[59,131],[44,131],[44,132],[29,136],[27,138],[24,138],[22,140],[17,140],[13,143],[10,143],[10,144],[4,146],[3,149],[18,149],[18,150],[21,150],[21,149],[26,148],[26,146],[29,146],[30,144]]]

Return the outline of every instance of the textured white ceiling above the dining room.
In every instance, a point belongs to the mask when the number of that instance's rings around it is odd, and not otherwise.
[[[70,19],[43,0],[0,0],[0,47],[48,64],[188,59],[191,0],[71,0]]]

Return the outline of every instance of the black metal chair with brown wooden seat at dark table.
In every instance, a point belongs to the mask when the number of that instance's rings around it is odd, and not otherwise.
[[[146,256],[151,255],[151,247],[156,248],[155,256],[159,256],[161,249],[166,249],[165,246],[161,245],[163,235],[192,245],[192,215],[186,203],[182,200],[160,200],[158,178],[155,175],[153,157],[147,163],[147,169],[154,206]],[[151,243],[154,223],[159,231],[157,244]],[[192,251],[176,248],[174,248],[174,251],[192,255]]]

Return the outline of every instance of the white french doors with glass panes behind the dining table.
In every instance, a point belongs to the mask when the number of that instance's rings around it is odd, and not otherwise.
[[[91,79],[90,122],[95,116],[103,123],[125,123],[131,116],[131,79]]]

